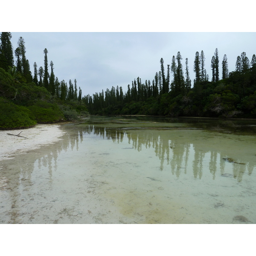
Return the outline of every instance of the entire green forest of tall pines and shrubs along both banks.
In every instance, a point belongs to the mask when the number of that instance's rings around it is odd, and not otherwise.
[[[177,52],[167,67],[160,59],[160,71],[153,75],[152,81],[142,83],[138,77],[128,84],[127,91],[112,86],[111,90],[82,96],[76,79],[74,84],[71,79],[67,84],[55,77],[54,64],[48,63],[47,48],[42,51],[44,67],[38,68],[35,62],[32,75],[24,39],[19,38],[13,51],[11,38],[10,32],[0,35],[0,129],[79,120],[79,116],[88,114],[256,117],[255,54],[250,61],[242,52],[237,56],[236,70],[229,72],[227,55],[220,65],[216,48],[209,81],[204,52],[196,52],[192,85],[188,59],[183,69],[182,56]]]

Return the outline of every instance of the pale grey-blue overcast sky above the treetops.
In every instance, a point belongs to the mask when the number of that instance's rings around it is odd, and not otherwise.
[[[255,32],[11,32],[14,50],[19,37],[26,46],[32,75],[33,64],[44,68],[44,49],[48,50],[48,64],[54,64],[58,80],[69,84],[77,81],[82,95],[105,92],[112,86],[127,85],[139,76],[145,80],[154,79],[160,71],[163,58],[165,71],[172,56],[179,51],[185,70],[188,58],[190,79],[195,78],[193,65],[195,53],[204,51],[207,74],[211,79],[211,59],[215,49],[219,52],[219,68],[224,54],[227,55],[229,71],[235,70],[236,58],[246,52],[251,61],[256,54]],[[172,74],[171,74],[172,75]],[[172,78],[172,76],[171,76]],[[221,78],[221,77],[220,77]]]

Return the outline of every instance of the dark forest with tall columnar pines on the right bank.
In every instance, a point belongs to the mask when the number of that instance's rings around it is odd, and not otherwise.
[[[141,82],[138,77],[122,87],[112,87],[102,93],[87,95],[84,101],[93,114],[140,114],[155,116],[202,116],[202,117],[256,117],[256,57],[251,62],[245,52],[237,57],[236,70],[228,71],[227,56],[222,61],[220,79],[218,49],[211,60],[212,81],[205,69],[204,52],[196,52],[193,71],[193,87],[189,78],[188,59],[185,72],[180,52],[172,57],[165,75],[163,58],[160,71],[151,83]],[[172,79],[170,77],[172,74]]]

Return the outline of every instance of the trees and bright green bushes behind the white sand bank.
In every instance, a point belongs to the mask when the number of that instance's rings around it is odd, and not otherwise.
[[[53,72],[53,62],[48,65],[47,49],[44,49],[44,68],[34,63],[34,76],[26,59],[26,47],[22,37],[15,49],[10,32],[0,35],[0,129],[26,128],[36,123],[54,123],[79,119],[87,115],[82,92],[72,81],[58,81]],[[50,73],[48,67],[51,68]]]

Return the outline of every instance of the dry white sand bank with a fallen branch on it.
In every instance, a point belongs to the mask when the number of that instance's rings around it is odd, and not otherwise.
[[[24,153],[41,145],[48,145],[61,140],[61,136],[65,134],[59,128],[60,125],[39,124],[33,128],[20,130],[0,131],[0,161],[15,157],[15,154]],[[20,133],[21,132],[21,133]],[[8,134],[19,134],[17,137]]]

